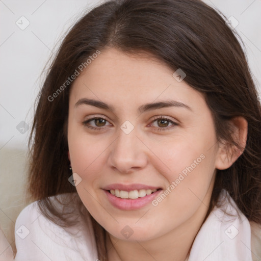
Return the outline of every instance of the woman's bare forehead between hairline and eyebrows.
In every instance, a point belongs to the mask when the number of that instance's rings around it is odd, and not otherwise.
[[[184,103],[204,99],[185,81],[178,82],[173,73],[174,70],[162,61],[107,49],[101,51],[74,80],[70,99],[88,97],[125,107],[157,99],[175,99]]]

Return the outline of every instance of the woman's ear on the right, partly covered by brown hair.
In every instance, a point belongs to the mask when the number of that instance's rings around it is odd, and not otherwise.
[[[232,138],[241,148],[236,145],[222,143],[219,144],[218,154],[216,158],[217,169],[228,169],[244,152],[247,141],[247,120],[241,116],[234,117],[230,120]]]

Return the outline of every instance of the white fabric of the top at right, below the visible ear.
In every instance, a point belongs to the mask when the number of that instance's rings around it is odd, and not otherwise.
[[[252,261],[251,228],[227,191],[201,226],[188,261]]]

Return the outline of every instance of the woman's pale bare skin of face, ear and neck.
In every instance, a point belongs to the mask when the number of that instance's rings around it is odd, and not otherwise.
[[[231,148],[227,153],[225,145],[217,142],[203,95],[186,78],[177,82],[173,72],[163,62],[111,48],[101,51],[70,90],[68,155],[73,172],[82,178],[76,190],[107,231],[110,261],[186,260],[207,212],[216,169],[229,168],[243,152]],[[105,102],[114,111],[83,103],[75,106],[85,98]],[[146,103],[167,100],[190,109],[138,111]],[[167,121],[155,120],[161,116]],[[94,117],[105,120],[83,124]],[[120,128],[126,120],[134,126],[129,134]],[[231,123],[235,138],[245,147],[247,121],[237,117]],[[166,189],[201,154],[205,158],[157,206],[120,210],[102,189],[113,183]],[[125,226],[133,230],[128,239],[121,233]]]

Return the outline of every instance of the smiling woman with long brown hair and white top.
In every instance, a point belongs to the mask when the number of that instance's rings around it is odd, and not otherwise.
[[[243,50],[211,7],[94,8],[37,101],[15,260],[259,260],[260,132]]]

